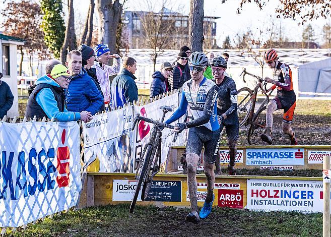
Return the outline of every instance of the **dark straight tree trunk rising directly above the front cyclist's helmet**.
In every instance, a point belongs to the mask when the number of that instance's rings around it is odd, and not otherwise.
[[[190,0],[188,15],[188,41],[191,51],[203,51],[204,0]]]

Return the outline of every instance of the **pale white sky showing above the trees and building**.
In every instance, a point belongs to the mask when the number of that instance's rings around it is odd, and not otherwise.
[[[36,0],[38,1],[38,0]],[[155,11],[161,9],[162,0],[126,0],[124,8],[128,11],[148,11],[149,7],[147,3],[154,4]],[[180,12],[188,15],[189,13],[189,0],[167,0],[167,8],[173,11]],[[76,17],[81,18],[80,22],[84,22],[87,16],[88,6],[90,0],[74,0],[74,7]],[[248,29],[252,30],[256,35],[259,29],[267,28],[272,21],[279,27],[282,26],[286,37],[290,41],[300,41],[303,26],[298,26],[299,21],[293,21],[290,19],[276,19],[275,10],[278,6],[279,0],[270,0],[263,10],[260,11],[256,4],[248,3],[244,5],[241,14],[237,14],[237,8],[239,7],[240,0],[227,0],[222,4],[221,0],[205,0],[204,1],[204,12],[205,16],[221,17],[216,20],[217,23],[217,43],[222,46],[222,43],[227,35],[230,36],[231,40],[234,40],[235,35],[238,32],[247,32]],[[4,5],[0,5],[0,10],[4,8]],[[97,24],[97,13],[95,12],[95,23]],[[0,19],[1,22],[2,19]],[[318,19],[308,22],[312,25],[316,41],[321,43],[321,30],[322,26],[326,23],[325,19]],[[78,24],[81,25],[81,24]],[[76,26],[76,29],[78,27]],[[82,27],[83,28],[83,24]]]

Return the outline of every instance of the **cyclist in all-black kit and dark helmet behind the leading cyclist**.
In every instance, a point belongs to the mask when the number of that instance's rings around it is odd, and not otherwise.
[[[230,175],[235,175],[235,159],[237,154],[237,140],[239,137],[239,120],[237,114],[237,88],[232,78],[224,75],[228,65],[226,60],[221,57],[214,57],[212,62],[212,72],[218,87],[217,96],[217,116],[220,124],[220,131],[225,127],[230,148],[230,162],[228,172]],[[216,173],[221,170],[220,167],[220,152],[217,153]]]

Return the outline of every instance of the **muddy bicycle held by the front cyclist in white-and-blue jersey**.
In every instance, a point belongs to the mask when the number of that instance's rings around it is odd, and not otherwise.
[[[132,130],[135,129],[136,124],[139,121],[145,121],[147,123],[154,124],[155,126],[151,130],[151,135],[148,143],[144,146],[143,153],[141,156],[136,159],[138,162],[137,171],[135,180],[137,180],[136,191],[134,198],[131,201],[129,213],[133,213],[138,199],[139,192],[142,188],[141,200],[145,199],[149,195],[153,183],[153,177],[160,171],[161,167],[161,139],[162,139],[162,130],[163,128],[174,129],[174,126],[163,123],[165,114],[169,111],[172,111],[172,108],[169,106],[161,106],[160,109],[163,111],[163,115],[160,121],[153,120],[152,118],[147,118],[140,116],[138,113],[135,117]],[[177,139],[177,133],[173,138],[173,142]]]

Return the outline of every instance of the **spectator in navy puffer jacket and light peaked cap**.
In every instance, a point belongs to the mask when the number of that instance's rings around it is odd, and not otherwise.
[[[160,71],[156,71],[152,75],[153,81],[150,89],[150,98],[168,91],[166,79],[168,79],[172,70],[173,68],[171,64],[169,62],[165,62],[161,65]]]

